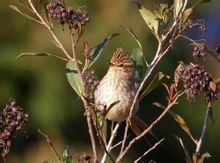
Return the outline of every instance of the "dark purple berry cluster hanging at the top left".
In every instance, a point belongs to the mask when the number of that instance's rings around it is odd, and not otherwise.
[[[79,9],[74,11],[60,2],[50,2],[46,9],[51,19],[59,21],[61,25],[68,24],[69,29],[78,29],[90,20],[85,11]]]

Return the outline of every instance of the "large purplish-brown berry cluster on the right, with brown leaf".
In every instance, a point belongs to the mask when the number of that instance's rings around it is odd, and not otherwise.
[[[207,103],[217,99],[217,86],[213,78],[199,65],[181,63],[175,71],[175,78],[183,82],[188,100],[194,99],[201,92],[205,93]]]

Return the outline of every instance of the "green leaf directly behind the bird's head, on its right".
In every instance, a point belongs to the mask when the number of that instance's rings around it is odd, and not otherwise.
[[[131,53],[131,58],[135,62],[135,83],[140,83],[146,68],[142,50],[140,48],[134,48]]]

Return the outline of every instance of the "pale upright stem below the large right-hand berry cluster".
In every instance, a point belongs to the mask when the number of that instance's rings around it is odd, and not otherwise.
[[[210,116],[210,111],[211,111],[211,108],[209,106],[207,106],[205,118],[204,118],[204,123],[203,123],[203,128],[202,128],[202,133],[201,133],[201,136],[200,136],[199,141],[196,146],[196,152],[195,152],[196,154],[199,154],[199,152],[200,152],[200,149],[202,146],[202,141],[203,141],[203,138],[204,138],[206,131],[207,131],[207,128],[208,128],[208,118]]]

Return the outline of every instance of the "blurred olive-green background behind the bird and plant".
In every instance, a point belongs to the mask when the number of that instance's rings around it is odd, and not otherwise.
[[[156,50],[156,41],[147,29],[138,13],[136,6],[128,0],[71,0],[66,1],[73,8],[86,6],[91,18],[87,29],[78,45],[77,55],[82,58],[83,41],[87,40],[91,47],[95,46],[104,37],[112,33],[120,36],[111,40],[104,50],[104,55],[93,67],[97,76],[101,78],[106,72],[111,53],[117,47],[123,47],[128,52],[137,47],[131,36],[120,27],[131,27],[142,42],[145,55],[150,61]],[[154,1],[141,1],[144,6],[155,7]],[[158,1],[159,2],[159,1]],[[166,1],[164,1],[166,2]],[[193,3],[195,1],[190,1]],[[24,131],[13,138],[12,148],[7,158],[8,163],[39,163],[44,160],[55,160],[50,147],[37,129],[48,134],[57,151],[61,154],[69,145],[74,156],[82,152],[91,153],[86,119],[83,116],[83,106],[65,76],[65,63],[49,57],[25,57],[16,59],[21,52],[50,52],[60,54],[52,37],[46,28],[32,22],[11,10],[8,6],[11,1],[1,1],[0,5],[0,107],[3,109],[10,97],[14,97],[18,104],[29,114],[29,121]],[[210,49],[215,50],[220,43],[220,1],[201,5],[194,14],[194,18],[204,18],[207,23],[205,38]],[[67,30],[56,28],[58,36],[68,50],[70,40]],[[193,37],[197,33],[191,32]],[[170,74],[177,66],[178,60],[189,62],[192,60],[191,48],[184,41],[177,41],[172,51],[162,60],[154,73],[163,71]],[[220,64],[207,55],[206,62],[201,61],[206,70],[214,78],[220,76]],[[138,114],[152,122],[161,110],[153,107],[152,102],[165,102],[166,92],[163,87],[158,88],[141,102]],[[202,146],[202,152],[209,152],[211,158],[206,162],[219,162],[220,155],[220,102],[214,104],[214,118],[216,123],[209,128]],[[198,138],[205,114],[204,97],[199,96],[195,102],[188,102],[181,98],[180,104],[173,108],[188,123],[192,134]],[[158,138],[165,137],[165,141],[156,150],[146,156],[146,162],[184,162],[184,152],[175,139],[175,135],[183,138],[190,152],[195,146],[188,136],[175,124],[170,116],[166,116],[154,129]],[[140,155],[145,143],[136,146],[129,154],[129,159]],[[129,161],[128,161],[129,162]]]

